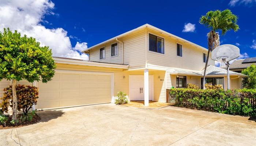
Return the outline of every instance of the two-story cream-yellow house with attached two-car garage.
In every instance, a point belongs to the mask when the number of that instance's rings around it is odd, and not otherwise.
[[[145,106],[149,100],[166,102],[166,89],[186,88],[189,83],[202,86],[207,49],[145,24],[84,53],[89,61],[55,57],[53,80],[33,82],[39,87],[37,109],[113,103],[119,91],[129,100],[144,100]],[[226,89],[226,73],[210,59],[206,82]],[[231,89],[241,88],[241,77],[230,71]],[[9,84],[3,80],[0,88]],[[24,80],[18,84],[32,85]]]

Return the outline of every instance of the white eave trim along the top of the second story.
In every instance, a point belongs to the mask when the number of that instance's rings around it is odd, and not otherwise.
[[[94,45],[94,46],[92,46],[92,47],[89,47],[89,48],[83,50],[82,52],[88,51],[88,50],[90,50],[90,49],[93,49],[94,47],[100,46],[100,45],[102,45],[102,44],[104,44],[104,43],[106,43],[106,42],[116,40],[116,38],[124,37],[125,35],[128,35],[128,34],[130,34],[130,33],[132,33],[132,32],[138,31],[138,30],[140,30],[140,29],[142,29],[142,28],[145,28],[145,27],[148,27],[148,28],[151,28],[151,29],[153,29],[153,30],[159,31],[159,32],[161,32],[162,34],[169,35],[170,37],[176,38],[176,39],[178,39],[178,40],[180,40],[180,41],[184,41],[184,42],[189,43],[189,44],[191,44],[191,45],[193,45],[193,46],[196,46],[196,47],[198,47],[198,48],[200,48],[200,49],[207,50],[206,48],[204,48],[204,47],[202,47],[202,46],[199,46],[199,45],[197,45],[197,44],[195,44],[195,43],[192,43],[192,42],[190,42],[190,41],[187,41],[187,40],[185,40],[185,39],[182,39],[182,38],[180,38],[180,37],[177,37],[176,35],[170,34],[169,32],[166,32],[166,31],[163,31],[163,30],[161,30],[161,29],[159,29],[159,28],[157,28],[157,27],[151,26],[150,24],[144,24],[143,26],[140,26],[140,27],[135,28],[135,29],[133,29],[133,30],[131,30],[131,31],[125,32],[125,33],[123,33],[123,34],[121,34],[121,35],[118,35],[118,36],[116,36],[116,37],[113,37],[113,38],[111,38],[111,39],[108,39],[107,41],[98,43],[97,45]],[[208,51],[208,50],[207,50],[207,51]]]

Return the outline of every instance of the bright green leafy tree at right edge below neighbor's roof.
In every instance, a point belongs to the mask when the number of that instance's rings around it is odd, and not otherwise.
[[[251,65],[248,68],[242,70],[242,74],[248,76],[243,78],[243,86],[248,89],[256,89],[256,65]]]

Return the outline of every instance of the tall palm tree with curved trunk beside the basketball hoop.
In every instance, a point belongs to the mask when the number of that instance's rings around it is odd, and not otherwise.
[[[203,24],[204,26],[210,29],[210,32],[207,33],[208,53],[204,68],[204,89],[206,68],[208,64],[210,51],[214,50],[216,47],[219,46],[219,33],[217,31],[221,31],[222,35],[226,34],[226,32],[229,30],[234,30],[236,32],[239,29],[239,26],[236,24],[237,19],[237,16],[232,14],[232,12],[229,9],[225,9],[224,11],[209,11],[206,13],[205,16],[202,16],[199,20],[200,24]]]

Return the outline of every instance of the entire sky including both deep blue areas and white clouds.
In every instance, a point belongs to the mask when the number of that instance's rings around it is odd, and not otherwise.
[[[221,44],[238,46],[240,58],[256,57],[256,0],[3,0],[0,8],[0,30],[18,30],[50,46],[54,55],[69,57],[86,57],[81,50],[146,23],[207,47],[209,30],[199,18],[210,10],[230,9],[240,30],[221,36]]]

